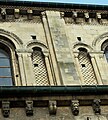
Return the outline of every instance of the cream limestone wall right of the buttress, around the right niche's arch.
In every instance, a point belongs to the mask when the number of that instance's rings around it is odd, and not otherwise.
[[[100,74],[102,84],[108,84],[108,76],[106,72],[108,64],[103,52],[101,52],[102,43],[100,45],[100,42],[97,42],[97,44],[94,45],[94,41],[96,41],[96,39],[102,34],[107,33],[107,29],[108,26],[102,25],[65,25],[66,34],[70,45],[70,51],[72,54],[75,52],[75,44],[79,44],[79,46],[84,47],[84,45],[81,45],[83,43],[91,48],[91,50],[89,49],[89,53],[91,57],[94,57],[95,59],[95,67],[98,69],[96,74]],[[81,37],[81,42],[78,41],[77,37]],[[76,61],[75,64],[77,64]]]

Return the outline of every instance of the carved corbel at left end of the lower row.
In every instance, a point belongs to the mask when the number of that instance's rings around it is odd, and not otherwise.
[[[2,114],[4,117],[9,117],[10,114],[10,102],[2,101]]]

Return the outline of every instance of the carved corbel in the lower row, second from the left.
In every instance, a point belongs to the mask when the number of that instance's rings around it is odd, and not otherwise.
[[[33,101],[26,101],[26,115],[33,116]]]

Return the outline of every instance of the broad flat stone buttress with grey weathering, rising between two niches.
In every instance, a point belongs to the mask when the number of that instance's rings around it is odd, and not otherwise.
[[[46,14],[61,74],[61,84],[77,85],[79,84],[79,78],[69,49],[64,20],[60,18],[59,12],[47,11]]]

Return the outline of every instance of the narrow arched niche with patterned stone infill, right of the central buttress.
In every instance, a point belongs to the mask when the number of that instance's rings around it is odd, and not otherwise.
[[[92,66],[91,57],[85,48],[79,48],[78,60],[83,76],[83,83],[85,85],[96,85],[97,80]]]

